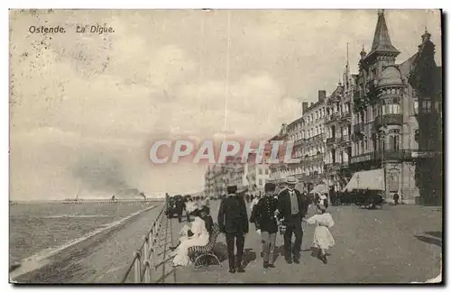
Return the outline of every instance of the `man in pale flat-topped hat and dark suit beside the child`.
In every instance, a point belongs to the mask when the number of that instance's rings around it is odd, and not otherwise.
[[[285,260],[291,263],[299,263],[300,248],[302,245],[302,218],[308,212],[308,197],[300,194],[299,190],[295,189],[297,180],[294,177],[287,179],[287,188],[281,191],[278,196],[277,216],[283,219],[282,224],[286,227],[283,234],[283,247],[285,251]],[[291,249],[291,237],[296,236],[294,245]],[[291,254],[293,259],[291,260]]]

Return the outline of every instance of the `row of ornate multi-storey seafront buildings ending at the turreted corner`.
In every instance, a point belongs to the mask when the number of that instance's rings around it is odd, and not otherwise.
[[[333,191],[355,181],[369,187],[383,181],[389,202],[397,193],[405,204],[440,205],[442,74],[430,33],[409,59],[397,63],[399,54],[379,11],[372,48],[361,50],[358,73],[350,72],[346,60],[343,82],[328,96],[318,91],[316,103],[302,103],[299,118],[283,123],[269,140],[294,142],[293,156],[301,159],[270,164],[269,180],[281,184],[294,175],[308,189],[324,183]],[[278,158],[283,156],[280,151]],[[368,172],[375,169],[381,171]]]

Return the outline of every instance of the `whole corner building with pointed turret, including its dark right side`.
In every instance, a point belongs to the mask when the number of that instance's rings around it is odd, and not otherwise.
[[[359,72],[354,78],[352,103],[352,157],[349,171],[384,169],[385,199],[398,193],[405,204],[437,205],[441,196],[441,68],[434,61],[430,34],[422,36],[419,52],[401,64],[400,54],[391,43],[383,11],[378,13],[373,46],[363,49]],[[429,51],[425,51],[426,50]],[[431,55],[426,58],[424,55]],[[429,63],[429,64],[426,64]],[[415,76],[426,81],[428,70],[432,83],[419,90]],[[423,71],[424,71],[423,70]],[[417,72],[417,73],[416,73]],[[423,75],[421,75],[423,74]],[[441,118],[440,118],[441,119]],[[434,123],[428,134],[424,125]],[[422,142],[422,141],[427,142]],[[434,161],[440,161],[434,166]],[[427,178],[425,172],[439,179]],[[434,197],[434,198],[433,198]]]

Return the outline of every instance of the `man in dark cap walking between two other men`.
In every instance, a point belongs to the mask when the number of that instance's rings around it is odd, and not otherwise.
[[[262,236],[263,269],[275,268],[274,250],[278,230],[275,211],[277,200],[274,198],[276,185],[266,183],[264,185],[265,196],[253,207],[250,222],[255,224],[257,233]]]

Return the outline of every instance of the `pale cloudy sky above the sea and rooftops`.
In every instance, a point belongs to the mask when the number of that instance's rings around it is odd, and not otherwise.
[[[397,63],[440,14],[385,10]],[[10,12],[10,199],[190,193],[206,165],[152,165],[152,141],[265,139],[368,52],[376,10]],[[106,23],[115,32],[77,32]],[[66,33],[30,33],[60,25]]]

